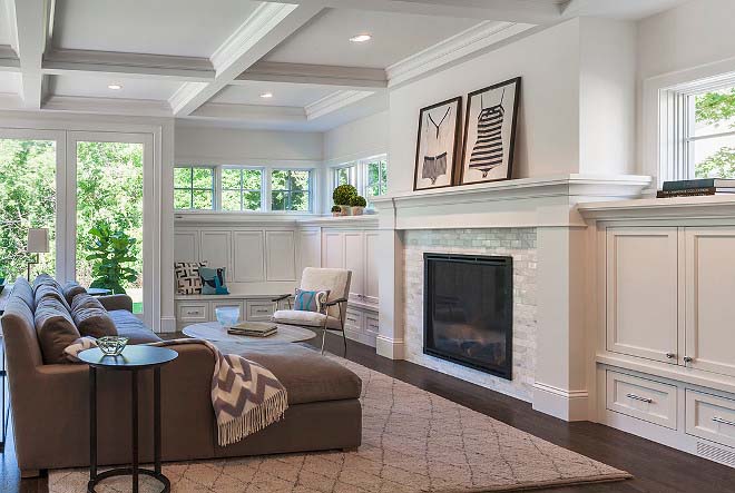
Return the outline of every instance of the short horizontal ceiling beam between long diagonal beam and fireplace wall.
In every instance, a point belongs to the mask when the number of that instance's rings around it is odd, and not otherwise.
[[[335,86],[341,89],[381,89],[388,87],[385,70],[383,69],[274,61],[258,61],[254,63],[249,69],[237,76],[232,83],[239,85],[249,80]]]

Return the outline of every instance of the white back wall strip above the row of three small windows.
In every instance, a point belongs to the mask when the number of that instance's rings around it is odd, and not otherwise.
[[[176,125],[176,162],[320,165],[323,135]]]

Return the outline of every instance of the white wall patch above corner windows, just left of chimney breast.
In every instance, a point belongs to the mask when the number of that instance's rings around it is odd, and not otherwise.
[[[324,134],[324,162],[339,165],[388,152],[390,112],[382,111]]]

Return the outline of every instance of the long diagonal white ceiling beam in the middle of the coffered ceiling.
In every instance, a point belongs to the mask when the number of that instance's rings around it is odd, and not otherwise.
[[[186,82],[171,96],[174,115],[190,115],[321,10],[321,4],[262,3],[212,56],[215,80]]]

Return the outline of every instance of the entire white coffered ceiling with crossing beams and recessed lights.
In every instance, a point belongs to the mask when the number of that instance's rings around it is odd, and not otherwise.
[[[0,0],[0,109],[321,131],[462,50],[678,1]]]

